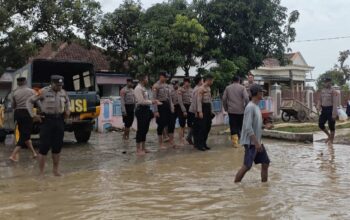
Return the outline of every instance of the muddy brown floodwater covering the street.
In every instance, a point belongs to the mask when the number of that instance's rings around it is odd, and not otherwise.
[[[152,136],[155,136],[152,134]],[[66,137],[73,140],[70,135]],[[63,177],[40,179],[37,162],[0,145],[0,219],[349,219],[350,148],[265,140],[268,183],[255,166],[241,184],[234,174],[243,150],[211,136],[209,152],[189,147],[135,156],[120,133],[67,143]]]

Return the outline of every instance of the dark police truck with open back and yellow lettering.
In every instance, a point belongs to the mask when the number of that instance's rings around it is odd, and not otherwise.
[[[100,114],[100,97],[96,85],[94,66],[87,62],[54,61],[46,59],[32,60],[29,64],[14,72],[12,91],[17,88],[17,78],[26,77],[28,86],[40,92],[50,85],[51,75],[64,76],[64,89],[70,98],[71,115],[65,120],[65,130],[74,132],[77,142],[88,142],[95,119]],[[7,134],[19,137],[14,122],[12,92],[0,103],[0,141]],[[36,108],[37,109],[37,108]],[[34,123],[33,134],[38,134],[40,124]]]

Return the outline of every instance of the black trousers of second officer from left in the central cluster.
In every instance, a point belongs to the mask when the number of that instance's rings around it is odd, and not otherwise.
[[[135,116],[137,120],[136,143],[145,142],[149,124],[153,117],[152,111],[149,106],[138,106]]]

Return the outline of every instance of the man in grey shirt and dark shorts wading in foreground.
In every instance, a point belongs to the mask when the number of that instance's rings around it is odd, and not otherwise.
[[[235,182],[241,182],[244,175],[255,164],[261,165],[261,181],[267,182],[268,168],[270,164],[269,156],[261,143],[262,129],[270,129],[271,124],[263,125],[262,115],[259,108],[259,102],[263,96],[262,88],[255,84],[250,88],[252,100],[247,105],[244,111],[243,127],[241,135],[241,145],[244,146],[244,163],[241,169],[236,174]]]

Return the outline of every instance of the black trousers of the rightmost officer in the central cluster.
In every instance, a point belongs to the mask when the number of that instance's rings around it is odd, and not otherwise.
[[[202,104],[203,118],[195,117],[193,124],[194,146],[204,148],[207,146],[208,135],[211,129],[212,113],[211,104]]]

